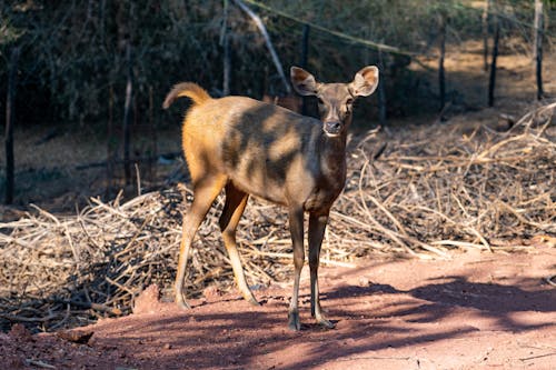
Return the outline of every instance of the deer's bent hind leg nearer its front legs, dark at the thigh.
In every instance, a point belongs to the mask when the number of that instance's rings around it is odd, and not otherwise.
[[[247,284],[236,243],[236,229],[241,214],[244,214],[249,194],[236,188],[234,183],[228,182],[226,184],[226,203],[220,216],[220,230],[222,231],[224,244],[228,251],[239,291],[248,302],[259,304]]]

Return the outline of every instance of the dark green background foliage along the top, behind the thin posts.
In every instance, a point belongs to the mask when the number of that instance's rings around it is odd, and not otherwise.
[[[357,40],[431,56],[439,18],[449,20],[448,42],[480,37],[481,30],[478,1],[265,1],[270,10],[247,2],[261,16],[286,69],[299,61],[299,21],[322,27],[311,30],[309,68],[326,80],[347,80],[363,64],[378,62],[376,48]],[[533,1],[498,2],[505,17],[515,21],[508,21],[508,32],[528,38],[530,32],[524,24],[532,23]],[[0,53],[4,61],[0,64],[0,91],[6,87],[7,56],[12,47],[20,47],[17,114],[26,122],[100,122],[106,127],[111,116],[118,124],[129,67],[128,42],[132,50],[136,122],[147,120],[151,89],[158,120],[166,117],[159,107],[176,82],[193,80],[218,96],[222,86],[222,30],[227,30],[231,44],[231,92],[256,98],[265,92],[284,92],[258,30],[234,1],[229,1],[226,27],[222,0],[17,0],[0,1]],[[408,77],[400,72],[408,57],[383,53],[383,58],[390,77],[390,97],[405,103],[407,97],[394,92],[401,83],[396,79]],[[389,103],[396,101],[390,99]]]

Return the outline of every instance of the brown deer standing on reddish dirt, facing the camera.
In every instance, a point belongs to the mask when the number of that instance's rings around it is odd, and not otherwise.
[[[320,244],[330,207],[346,181],[346,138],[354,100],[371,94],[378,69],[366,67],[350,83],[320,83],[301,68],[291,68],[291,82],[301,96],[318,98],[321,121],[245,97],[211,98],[192,82],[177,84],[166,97],[168,108],[179,97],[192,107],[183,119],[182,146],[191,174],[193,202],[183,217],[176,277],[176,302],[183,298],[183,279],[195,233],[224,188],[226,203],[220,229],[236,283],[244,298],[258,304],[247,286],[236,246],[236,228],[252,194],[287,207],[294,246],[294,293],[288,326],[299,330],[299,277],[305,260],[304,212],[309,213],[311,314],[334,328],[322,313],[318,292]]]

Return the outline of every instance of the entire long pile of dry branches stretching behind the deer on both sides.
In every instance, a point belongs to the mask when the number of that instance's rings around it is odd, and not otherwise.
[[[348,183],[332,209],[321,261],[345,266],[376,251],[493,250],[556,233],[555,107],[505,132],[454,122],[351,140]],[[171,298],[190,198],[180,187],[123,203],[91,199],[73,217],[37,208],[0,223],[1,326],[53,330],[126,313],[151,283]],[[219,198],[199,230],[188,294],[210,282],[232,284],[218,230],[221,208]],[[251,199],[238,230],[251,284],[286,280],[291,253],[284,210]]]

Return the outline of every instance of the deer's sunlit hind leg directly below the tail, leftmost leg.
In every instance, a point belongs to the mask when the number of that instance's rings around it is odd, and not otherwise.
[[[176,274],[176,303],[181,308],[189,308],[189,304],[187,304],[183,298],[183,279],[191,243],[197,229],[227,181],[228,179],[224,174],[210,174],[203,177],[202,180],[197,181],[193,186],[193,202],[183,217],[178,272]]]

